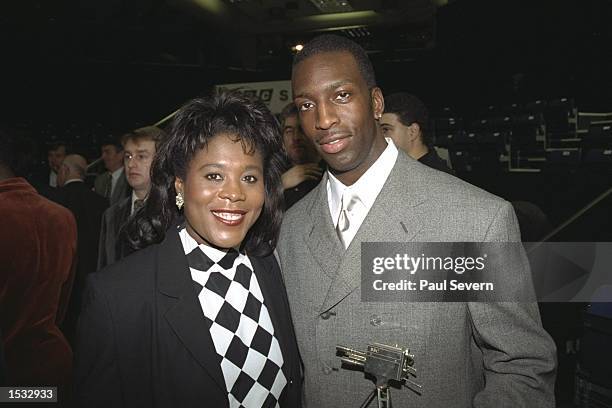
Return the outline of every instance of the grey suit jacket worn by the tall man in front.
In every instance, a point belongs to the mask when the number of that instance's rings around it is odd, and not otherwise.
[[[373,383],[340,368],[335,346],[364,350],[372,342],[415,354],[421,395],[393,389],[396,408],[554,406],[555,346],[542,329],[537,304],[361,301],[362,241],[520,241],[508,202],[400,151],[344,251],[326,185],[325,176],[288,211],[278,244],[308,407],[360,406]],[[522,261],[523,278],[529,278]]]

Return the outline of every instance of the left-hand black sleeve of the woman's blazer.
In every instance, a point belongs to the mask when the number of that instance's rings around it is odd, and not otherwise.
[[[74,396],[76,407],[121,407],[115,325],[108,298],[88,276],[77,326]]]

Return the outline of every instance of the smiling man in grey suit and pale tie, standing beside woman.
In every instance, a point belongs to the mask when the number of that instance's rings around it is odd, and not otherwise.
[[[394,407],[554,406],[554,345],[536,304],[361,301],[362,242],[519,241],[510,204],[379,134],[382,92],[354,42],[315,38],[294,60],[292,87],[328,165],[287,212],[278,245],[307,406],[360,406],[373,384],[341,368],[336,345],[374,342],[415,355],[422,389],[393,389]]]

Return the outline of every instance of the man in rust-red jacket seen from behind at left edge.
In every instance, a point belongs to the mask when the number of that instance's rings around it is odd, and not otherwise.
[[[59,329],[73,281],[73,215],[21,175],[36,157],[31,141],[0,133],[0,330],[7,385],[69,389],[72,350]]]

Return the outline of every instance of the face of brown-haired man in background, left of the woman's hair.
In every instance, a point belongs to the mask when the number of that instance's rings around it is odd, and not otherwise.
[[[149,191],[151,163],[155,156],[152,140],[128,140],[123,149],[123,164],[128,184],[136,191]]]

